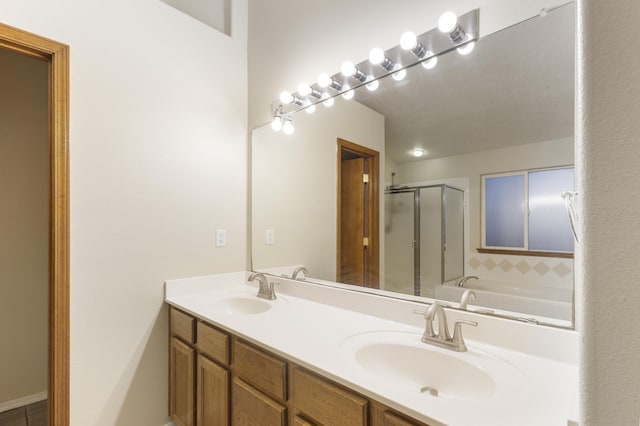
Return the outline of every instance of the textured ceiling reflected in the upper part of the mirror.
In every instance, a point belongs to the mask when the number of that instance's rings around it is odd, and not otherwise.
[[[566,138],[574,133],[574,6],[550,11],[451,52],[402,82],[360,88],[355,100],[385,116],[386,155],[415,161]]]

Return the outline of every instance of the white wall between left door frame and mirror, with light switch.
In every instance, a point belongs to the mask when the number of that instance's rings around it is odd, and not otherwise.
[[[166,424],[163,281],[246,267],[246,0],[232,37],[158,0],[0,10],[71,46],[71,423]]]

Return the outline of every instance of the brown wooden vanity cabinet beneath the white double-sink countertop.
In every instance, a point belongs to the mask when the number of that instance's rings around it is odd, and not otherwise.
[[[170,307],[178,426],[428,426]]]

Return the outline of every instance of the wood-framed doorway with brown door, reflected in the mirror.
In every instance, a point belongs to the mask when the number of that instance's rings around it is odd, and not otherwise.
[[[378,288],[380,153],[338,139],[336,281]]]

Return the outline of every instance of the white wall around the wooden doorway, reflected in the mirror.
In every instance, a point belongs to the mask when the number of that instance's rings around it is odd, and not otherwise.
[[[293,123],[292,135],[274,132],[270,125],[252,134],[252,267],[303,264],[310,276],[333,281],[337,138],[376,150],[383,159],[384,117],[339,98],[331,108],[319,105],[314,114],[296,114]],[[383,208],[380,223],[384,236]],[[265,243],[266,229],[274,231],[273,245]]]

